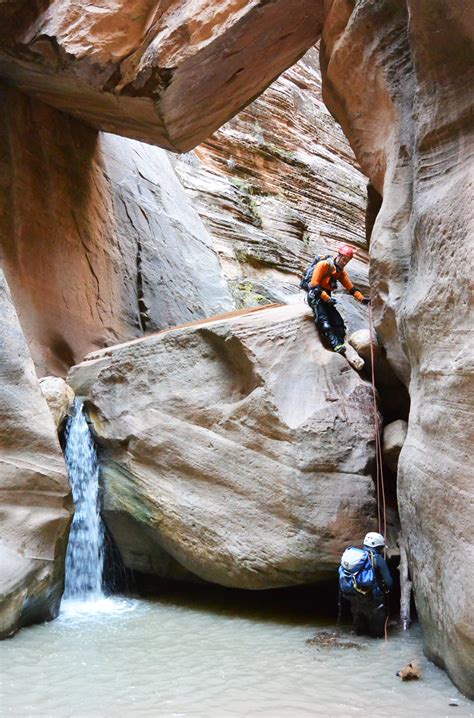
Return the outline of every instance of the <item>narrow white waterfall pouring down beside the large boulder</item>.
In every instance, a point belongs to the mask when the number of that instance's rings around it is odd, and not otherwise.
[[[101,598],[104,524],[99,507],[99,463],[94,440],[76,399],[65,430],[65,459],[75,504],[66,553],[64,598]]]

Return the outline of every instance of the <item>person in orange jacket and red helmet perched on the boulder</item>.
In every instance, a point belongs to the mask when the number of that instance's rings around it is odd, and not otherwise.
[[[345,353],[346,326],[337,311],[337,300],[331,293],[340,282],[362,304],[370,304],[359,289],[352,284],[345,266],[354,256],[347,244],[339,247],[335,257],[317,256],[310,264],[301,280],[300,287],[308,292],[308,304],[313,310],[316,326],[322,332],[335,352]]]

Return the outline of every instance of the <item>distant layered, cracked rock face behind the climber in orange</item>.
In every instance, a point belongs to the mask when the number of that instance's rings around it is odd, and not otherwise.
[[[239,305],[291,301],[314,254],[341,242],[367,289],[366,181],[322,101],[316,49],[175,167]]]

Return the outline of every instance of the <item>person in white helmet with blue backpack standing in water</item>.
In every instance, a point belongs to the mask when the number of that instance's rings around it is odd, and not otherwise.
[[[385,539],[370,531],[363,548],[349,547],[342,554],[339,566],[339,590],[351,604],[354,628],[382,638],[387,620],[387,597],[392,577],[383,557]]]

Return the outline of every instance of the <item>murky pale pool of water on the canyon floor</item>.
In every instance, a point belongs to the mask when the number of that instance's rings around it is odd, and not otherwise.
[[[63,603],[55,621],[0,645],[0,715],[474,716],[473,704],[422,655],[419,628],[387,642],[340,629],[352,647],[307,640],[334,626],[253,605],[164,596]],[[413,658],[420,681],[396,672]],[[457,706],[450,706],[456,700]]]

